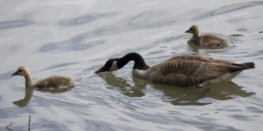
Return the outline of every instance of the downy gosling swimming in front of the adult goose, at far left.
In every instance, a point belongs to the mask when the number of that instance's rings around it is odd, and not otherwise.
[[[30,75],[29,70],[21,66],[17,69],[12,76],[24,76],[25,77],[25,87],[26,88],[38,88],[38,89],[61,89],[61,88],[68,88],[73,87],[75,82],[69,77],[63,76],[51,76],[48,78],[41,79],[36,82],[32,82],[32,78]]]

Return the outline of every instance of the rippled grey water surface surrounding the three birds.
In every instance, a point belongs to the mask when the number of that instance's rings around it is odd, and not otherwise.
[[[262,1],[0,1],[0,130],[262,130]],[[187,44],[193,25],[230,41],[224,48]],[[148,65],[182,54],[254,61],[210,91],[133,77],[133,62],[95,74],[109,58],[140,53]],[[64,75],[63,91],[25,89]]]

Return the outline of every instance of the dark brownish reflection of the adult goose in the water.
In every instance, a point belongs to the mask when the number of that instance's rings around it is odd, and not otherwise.
[[[207,105],[212,104],[211,101],[206,102],[205,100],[200,100],[202,98],[212,98],[215,100],[230,100],[234,99],[236,96],[249,97],[254,95],[254,92],[248,92],[243,90],[241,86],[233,82],[222,83],[217,85],[207,86],[210,90],[203,90],[200,88],[182,88],[174,87],[168,85],[161,85],[151,83],[139,78],[133,77],[133,83],[126,82],[123,78],[117,77],[113,73],[98,74],[100,77],[104,78],[107,84],[112,87],[107,87],[108,89],[118,90],[121,94],[129,97],[142,97],[147,94],[143,92],[146,86],[150,86],[155,90],[161,91],[163,93],[164,102],[169,102],[172,105]]]

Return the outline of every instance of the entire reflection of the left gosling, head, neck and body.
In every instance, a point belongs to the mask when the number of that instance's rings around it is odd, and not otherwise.
[[[25,88],[25,97],[21,100],[18,101],[14,101],[12,102],[13,104],[19,106],[19,107],[25,107],[29,104],[32,96],[33,96],[33,91],[37,90],[40,92],[49,92],[52,94],[60,94],[63,92],[67,92],[70,91],[73,87],[69,87],[69,88],[64,88],[64,89],[57,89],[57,90],[48,90],[48,89],[30,89],[30,88]]]

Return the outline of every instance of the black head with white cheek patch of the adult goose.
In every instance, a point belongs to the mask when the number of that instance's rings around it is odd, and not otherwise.
[[[119,58],[111,58],[109,60],[107,60],[107,62],[103,65],[102,68],[100,68],[99,70],[95,71],[95,73],[102,73],[102,72],[113,72],[116,70],[119,70],[120,65],[118,65],[117,60]]]

